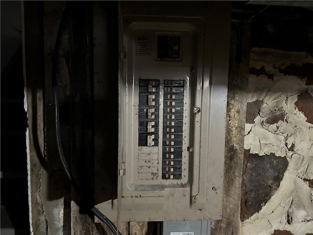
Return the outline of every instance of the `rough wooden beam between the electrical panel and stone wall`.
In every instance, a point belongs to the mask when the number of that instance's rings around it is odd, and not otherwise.
[[[222,220],[215,221],[211,229],[212,235],[237,235],[240,231],[250,31],[249,24],[233,24],[231,28],[223,211]]]

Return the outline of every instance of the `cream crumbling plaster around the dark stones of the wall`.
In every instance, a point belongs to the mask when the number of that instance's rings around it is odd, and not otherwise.
[[[313,58],[305,52],[270,48],[253,48],[250,56],[250,68],[265,68],[272,76],[249,75],[247,102],[262,100],[263,105],[254,123],[246,123],[245,149],[260,156],[287,157],[289,164],[268,202],[241,222],[241,234],[271,235],[274,230],[293,235],[313,233],[313,188],[308,183],[313,179],[313,123],[295,105],[299,94],[313,96],[313,85],[306,85],[306,77],[281,73],[291,64],[312,64]],[[284,120],[267,123],[267,118],[279,114],[284,114]]]

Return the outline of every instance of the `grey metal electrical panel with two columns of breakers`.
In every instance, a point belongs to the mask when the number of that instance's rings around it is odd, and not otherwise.
[[[121,3],[113,221],[221,218],[230,5],[180,3]]]

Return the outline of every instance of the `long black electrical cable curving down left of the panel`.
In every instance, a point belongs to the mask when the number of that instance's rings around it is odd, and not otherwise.
[[[57,37],[55,40],[55,46],[54,46],[54,51],[53,51],[53,56],[52,56],[52,86],[53,86],[53,95],[54,95],[54,111],[55,111],[55,130],[56,130],[56,141],[57,141],[57,148],[58,148],[58,153],[60,160],[62,162],[63,169],[67,175],[67,178],[73,188],[77,191],[78,195],[82,195],[82,190],[79,188],[78,184],[76,181],[73,179],[67,161],[65,159],[64,153],[63,153],[63,148],[62,148],[62,142],[61,142],[61,135],[60,135],[60,123],[59,123],[59,100],[58,100],[58,91],[57,91],[57,79],[56,79],[56,73],[57,73],[57,62],[58,62],[58,49],[60,47],[60,42],[61,42],[61,34],[64,30],[66,20],[68,19],[69,15],[69,6],[67,4],[62,18],[61,22],[59,24],[58,32],[57,32]],[[84,201],[82,201],[84,203]],[[89,207],[88,207],[89,208]],[[121,235],[119,231],[117,231],[116,226],[113,224],[113,222],[106,217],[101,211],[99,211],[97,208],[92,207],[89,208],[89,210],[97,217],[99,218],[103,223],[105,223],[108,228],[113,232],[113,234],[118,234]]]

